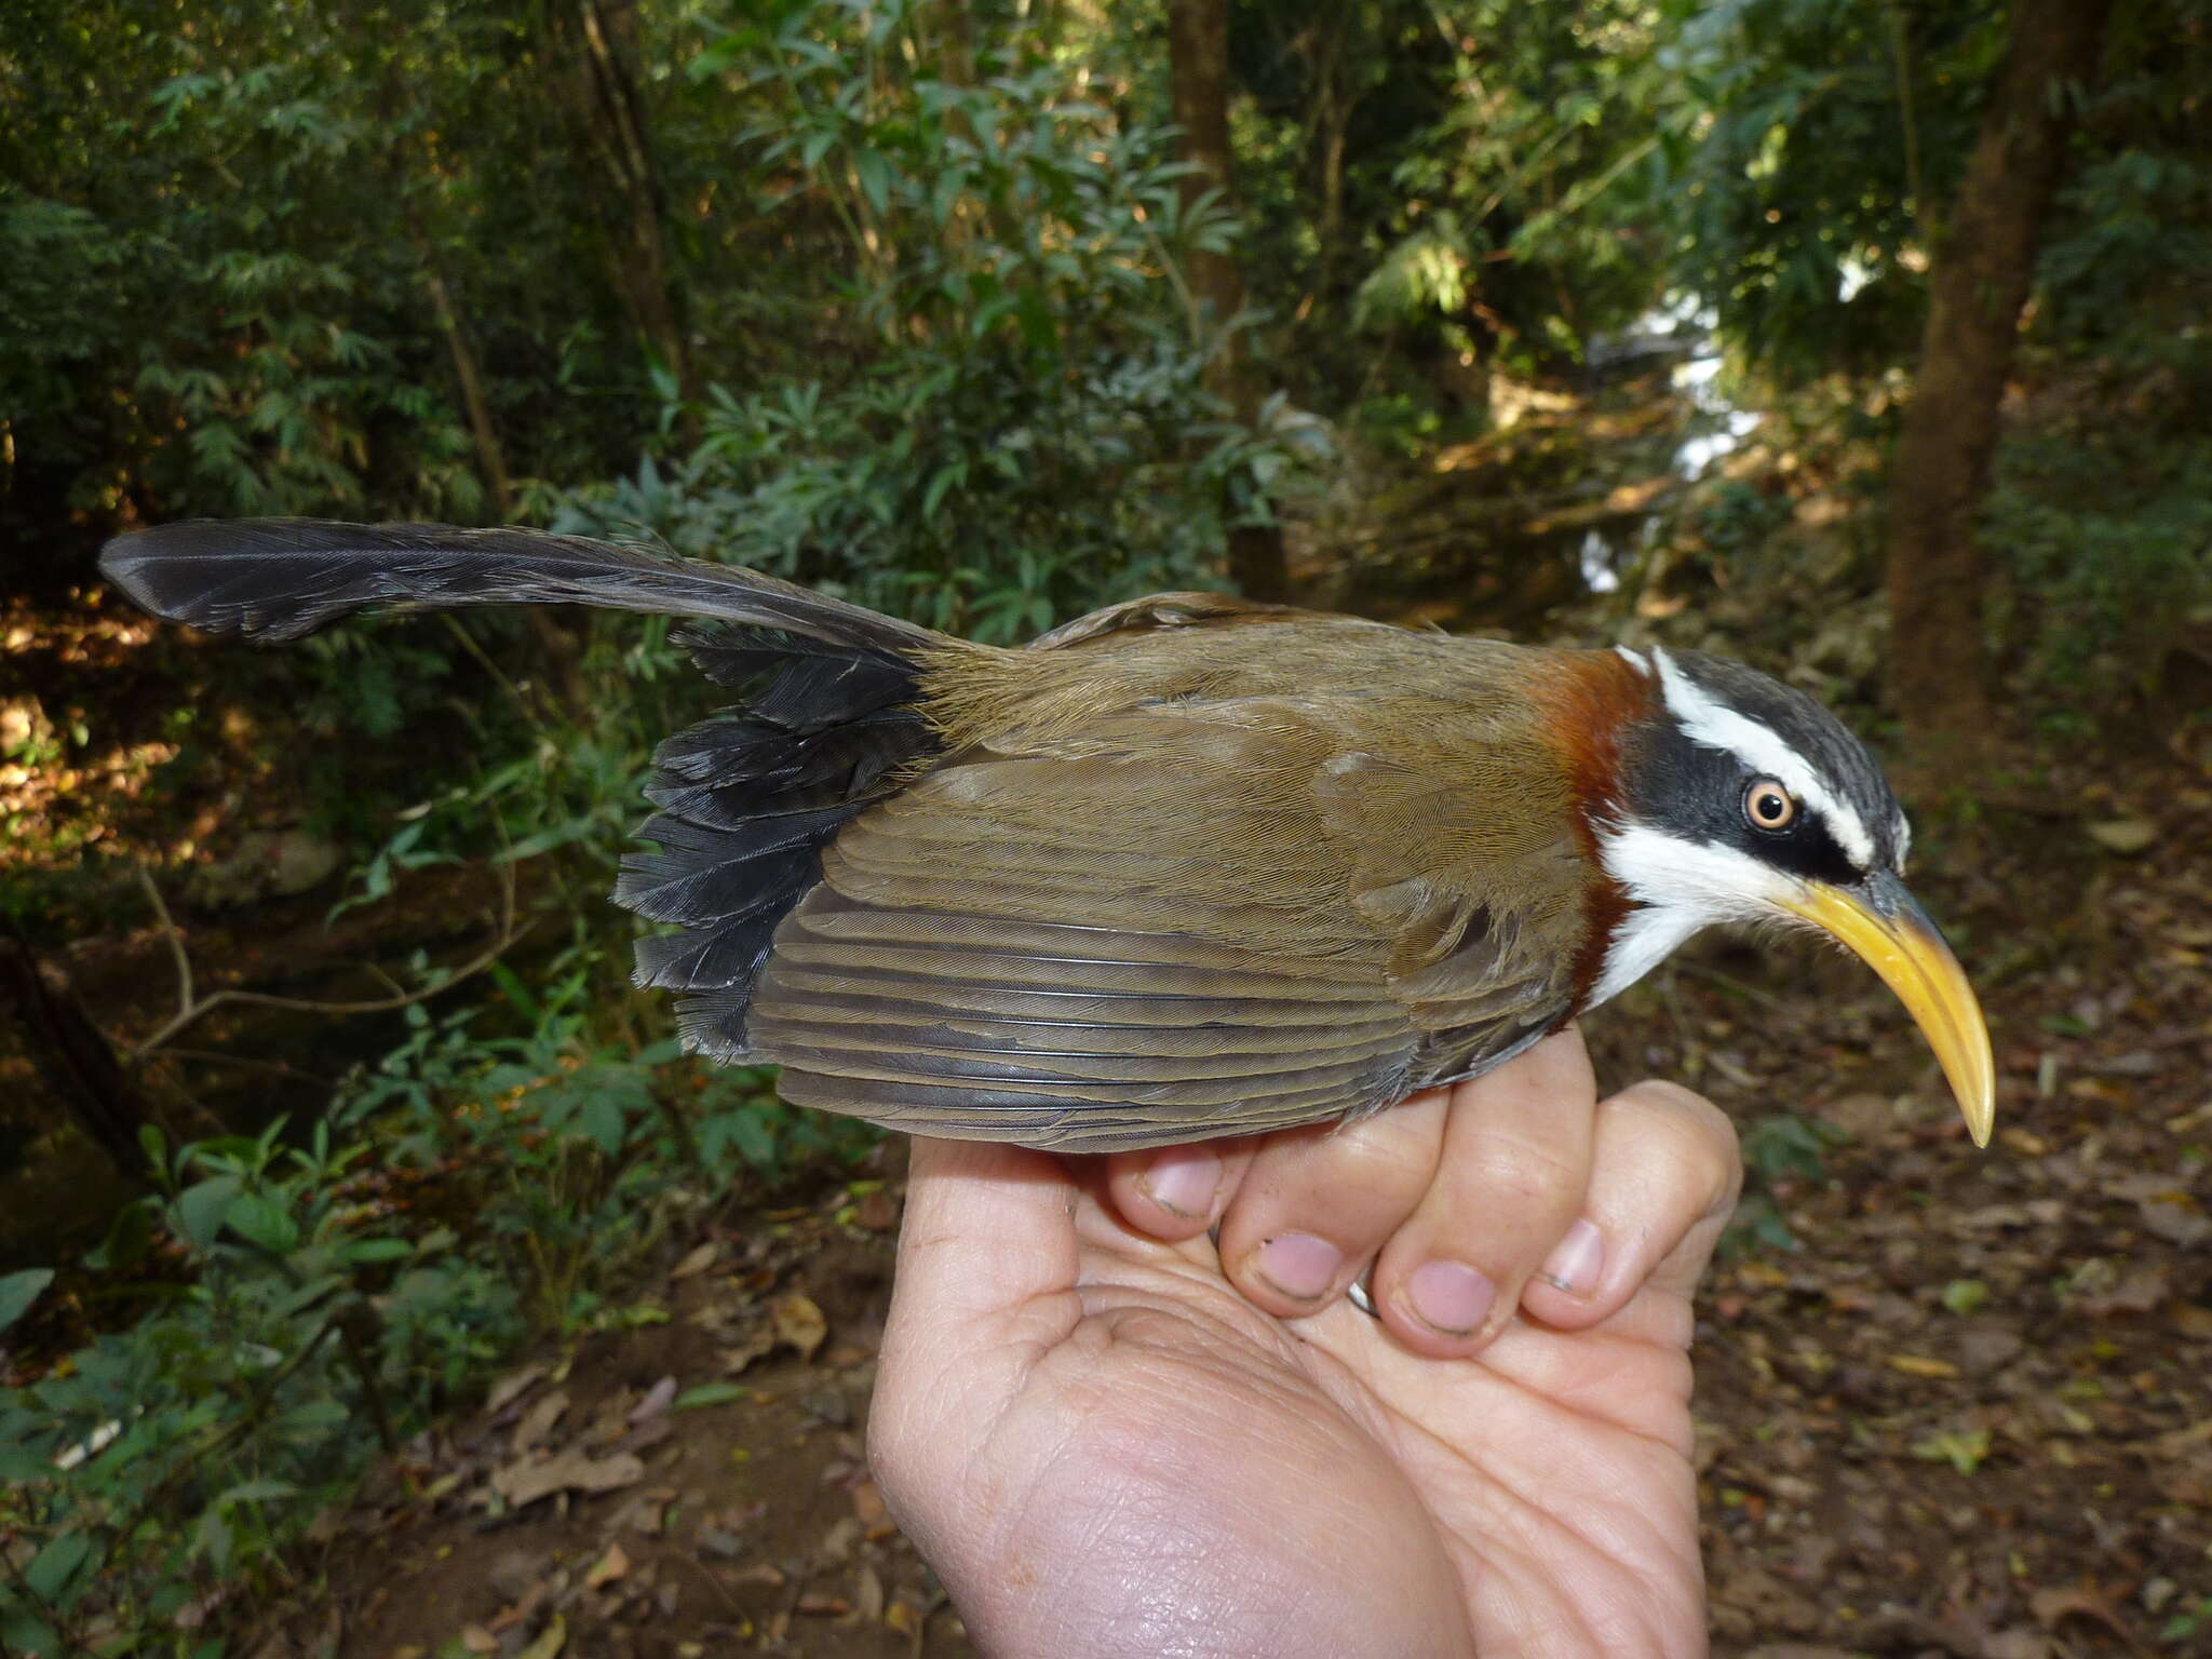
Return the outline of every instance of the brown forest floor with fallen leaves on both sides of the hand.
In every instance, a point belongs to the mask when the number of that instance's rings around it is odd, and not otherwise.
[[[60,690],[33,686],[51,712],[135,646],[135,624],[84,615],[0,619],[82,628]],[[18,823],[71,823],[153,759],[119,741],[66,783],[18,763],[0,790]],[[175,810],[102,834],[150,836]],[[1995,1035],[1991,1150],[1840,958],[1703,947],[1588,1022],[1601,1077],[1690,1082],[1752,1152],[1754,1208],[1697,1345],[1714,1646],[2212,1652],[2212,781],[2157,750],[2059,768],[2033,810],[1936,841],[1924,898]],[[95,1013],[144,1024],[166,940],[64,898]],[[204,982],[294,984],[301,962],[254,933],[195,931]],[[672,1239],[639,1323],[526,1356],[380,1469],[234,1652],[969,1652],[863,1458],[900,1203],[898,1150],[878,1161]],[[701,1385],[721,1387],[679,1407]]]

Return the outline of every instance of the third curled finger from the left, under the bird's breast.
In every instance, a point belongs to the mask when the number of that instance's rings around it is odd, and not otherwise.
[[[1582,1214],[1597,1082],[1582,1033],[1451,1091],[1442,1164],[1376,1261],[1374,1303],[1416,1354],[1473,1354]]]

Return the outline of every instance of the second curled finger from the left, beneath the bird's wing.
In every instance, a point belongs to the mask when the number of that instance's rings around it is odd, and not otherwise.
[[[1270,1135],[1221,1217],[1221,1265],[1245,1301],[1325,1307],[1413,1212],[1436,1175],[1444,1091],[1349,1124]]]

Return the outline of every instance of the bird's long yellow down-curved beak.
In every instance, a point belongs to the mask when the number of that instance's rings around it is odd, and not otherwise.
[[[1989,1024],[1966,984],[1966,971],[1936,922],[1905,891],[1905,883],[1889,874],[1869,876],[1858,889],[1812,880],[1776,902],[1834,933],[1898,993],[1958,1095],[1966,1133],[1975,1146],[1989,1146],[1989,1130],[1997,1121],[1997,1064],[1989,1053]]]

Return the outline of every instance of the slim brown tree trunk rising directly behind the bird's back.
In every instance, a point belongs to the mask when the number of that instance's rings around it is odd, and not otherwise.
[[[1168,0],[1168,77],[1175,124],[1183,128],[1181,159],[1197,170],[1181,181],[1183,210],[1219,190],[1237,195],[1237,157],[1230,150],[1230,11],[1228,0]],[[1219,330],[1221,343],[1208,358],[1206,383],[1230,403],[1245,425],[1259,416],[1261,394],[1243,334],[1228,332],[1243,312],[1243,272],[1225,252],[1192,252],[1190,292],[1199,303],[1199,327]],[[1230,580],[1254,599],[1290,597],[1279,524],[1230,529]]]

